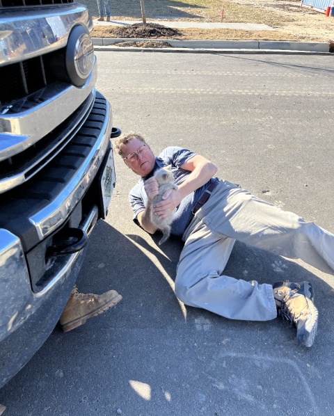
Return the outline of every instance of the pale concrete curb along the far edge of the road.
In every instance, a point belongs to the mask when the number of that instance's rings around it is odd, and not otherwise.
[[[137,38],[92,38],[97,50],[140,50],[173,52],[186,51],[244,51],[247,53],[316,53],[330,54],[327,42],[274,42],[270,40],[175,40],[175,39],[137,39]],[[111,47],[116,42],[168,42],[172,48]],[[103,48],[103,49],[102,49]],[[184,50],[183,50],[184,49]]]

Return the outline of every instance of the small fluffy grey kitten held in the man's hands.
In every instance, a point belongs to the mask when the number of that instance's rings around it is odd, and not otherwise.
[[[164,193],[168,189],[175,189],[177,191],[178,187],[174,183],[174,177],[173,173],[170,171],[170,166],[166,166],[165,168],[157,170],[157,172],[154,173],[153,177],[157,179],[157,182],[159,184],[159,194],[157,196],[154,196],[152,204],[157,204],[157,202],[162,201],[162,195],[164,195]],[[175,211],[176,209],[170,214],[168,214],[166,218],[159,218],[159,216],[154,215],[153,212],[151,212],[152,223],[164,233],[164,236],[159,241],[159,245],[164,243],[166,239],[168,239],[169,237],[170,223],[173,221]]]

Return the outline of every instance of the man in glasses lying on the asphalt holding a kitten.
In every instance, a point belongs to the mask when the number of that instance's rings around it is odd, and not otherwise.
[[[175,278],[177,298],[230,319],[268,321],[279,314],[296,325],[301,344],[312,346],[318,312],[310,282],[260,285],[222,273],[236,240],[333,273],[334,235],[219,180],[214,177],[216,166],[190,150],[167,147],[155,157],[136,133],[118,138],[115,148],[141,177],[129,200],[143,230],[156,232],[152,213],[165,218],[176,209],[171,234],[184,241]],[[159,193],[154,172],[169,165],[178,189],[166,191],[163,200],[153,204]]]

